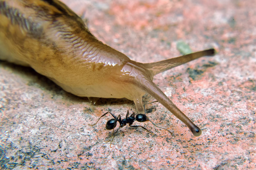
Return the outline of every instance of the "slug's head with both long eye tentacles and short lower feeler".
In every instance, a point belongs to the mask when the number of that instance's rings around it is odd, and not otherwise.
[[[138,112],[142,113],[144,111],[142,96],[145,93],[148,93],[158,102],[164,105],[164,107],[166,107],[173,115],[175,115],[182,122],[184,122],[194,136],[200,136],[202,130],[197,127],[184,113],[182,113],[180,109],[175,106],[175,104],[164,94],[164,92],[162,92],[156,86],[156,84],[153,83],[152,80],[154,75],[160,72],[169,70],[173,67],[181,65],[183,63],[187,63],[204,55],[214,55],[214,53],[214,49],[209,49],[156,63],[143,64],[134,61],[127,62],[123,67],[123,70],[126,70],[126,74],[124,74],[124,76],[126,76],[126,79],[128,78],[129,81],[127,82],[136,86],[136,88],[130,91],[130,93],[133,97],[133,101],[137,107]]]

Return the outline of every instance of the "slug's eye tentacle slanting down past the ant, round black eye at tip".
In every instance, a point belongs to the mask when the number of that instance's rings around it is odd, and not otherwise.
[[[145,79],[144,79],[145,80]],[[200,136],[202,131],[198,128],[184,113],[180,111],[180,109],[172,103],[172,101],[162,92],[155,83],[150,80],[146,80],[143,82],[134,82],[145,92],[153,96],[158,102],[160,102],[164,107],[166,107],[173,115],[175,115],[178,119],[184,122],[194,136]]]

